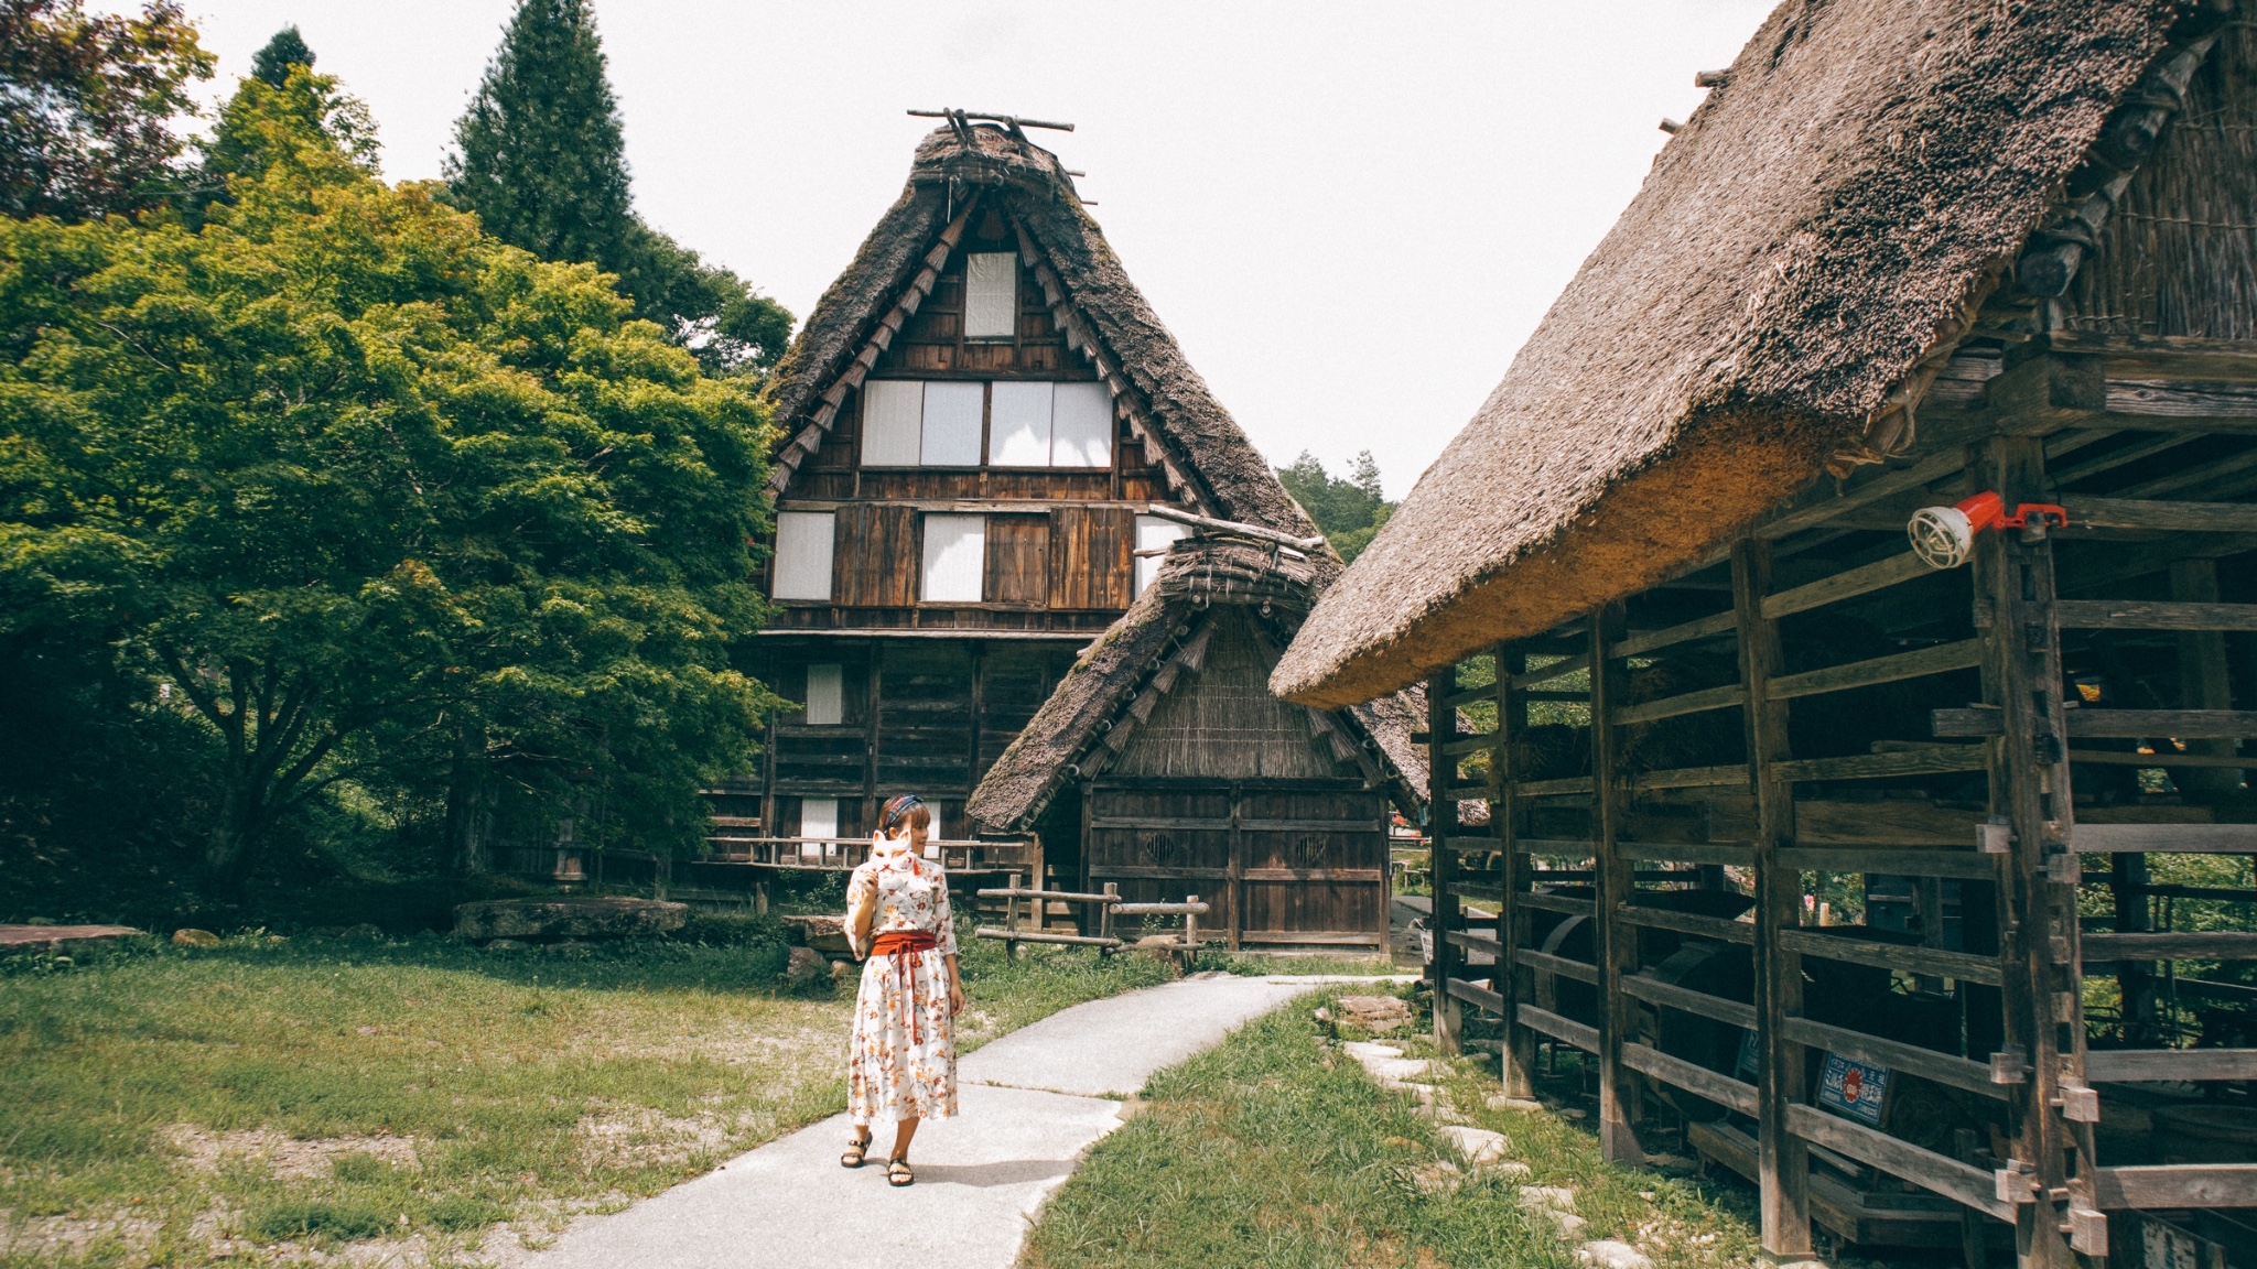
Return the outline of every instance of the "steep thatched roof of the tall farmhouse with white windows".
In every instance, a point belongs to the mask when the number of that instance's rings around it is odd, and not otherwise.
[[[1185,485],[1176,497],[1221,519],[1314,535],[1316,524],[1128,280],[1059,156],[991,126],[971,126],[964,135],[973,145],[939,129],[916,147],[901,199],[824,291],[776,366],[770,402],[785,440],[772,488],[781,492],[790,472],[824,443],[846,391],[862,382],[930,291],[930,273],[946,264],[971,199],[989,194],[1020,233],[1020,257],[1045,294],[1056,287],[1052,312],[1068,316],[1068,339],[1097,364],[1115,397],[1126,397],[1147,456]],[[896,316],[903,307],[907,312]]]

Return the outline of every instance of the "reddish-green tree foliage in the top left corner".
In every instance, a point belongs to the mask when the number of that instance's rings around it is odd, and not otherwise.
[[[172,0],[138,18],[79,0],[0,0],[0,215],[81,221],[181,187],[190,86],[212,54]]]

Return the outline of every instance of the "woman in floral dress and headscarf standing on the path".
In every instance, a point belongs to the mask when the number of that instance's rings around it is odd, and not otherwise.
[[[957,980],[957,930],[948,912],[941,865],[919,858],[932,811],[914,793],[885,804],[869,863],[846,885],[846,939],[862,957],[862,991],[853,1003],[853,1048],[846,1054],[846,1109],[853,1140],[840,1156],[862,1167],[871,1124],[894,1122],[885,1179],[910,1185],[910,1138],[921,1120],[957,1113],[957,1036],[964,1009]]]

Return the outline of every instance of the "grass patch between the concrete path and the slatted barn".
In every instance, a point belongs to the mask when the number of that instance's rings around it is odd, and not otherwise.
[[[1756,1260],[1736,1192],[1598,1158],[1593,1136],[1551,1113],[1490,1111],[1494,1066],[1451,1064],[1460,1118],[1503,1131],[1512,1179],[1460,1156],[1381,1091],[1311,1021],[1318,1000],[1259,1018],[1221,1048],[1169,1068],[1140,1113],[1108,1136],[1034,1226],[1025,1269],[1336,1269],[1569,1267],[1551,1219],[1521,1208],[1521,1185],[1575,1190],[1582,1240],[1639,1244],[1659,1269]],[[1343,1034],[1352,1030],[1341,1027]],[[1350,1034],[1350,1039],[1354,1039]],[[1424,1041],[1397,1043],[1431,1057]]]

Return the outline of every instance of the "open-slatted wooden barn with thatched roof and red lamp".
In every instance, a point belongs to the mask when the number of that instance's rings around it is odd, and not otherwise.
[[[2257,14],[1702,84],[1273,686],[1429,682],[1444,1041],[1772,1251],[2257,1262]]]

